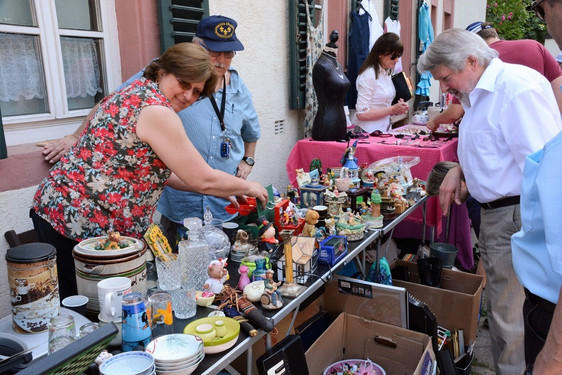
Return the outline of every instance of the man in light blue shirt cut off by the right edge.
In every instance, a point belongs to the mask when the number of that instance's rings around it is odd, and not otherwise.
[[[562,1],[529,7],[562,48]],[[544,123],[541,119],[541,125]],[[513,267],[525,288],[526,374],[562,374],[562,133],[527,156],[521,188],[521,231],[511,239]]]

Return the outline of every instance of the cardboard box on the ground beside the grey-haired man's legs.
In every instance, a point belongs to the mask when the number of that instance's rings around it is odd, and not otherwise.
[[[391,268],[404,266],[409,281],[392,280],[392,285],[404,287],[414,298],[424,302],[435,314],[437,324],[448,329],[464,330],[464,344],[476,339],[484,278],[467,272],[443,269],[441,288],[419,284],[417,263],[396,260]]]

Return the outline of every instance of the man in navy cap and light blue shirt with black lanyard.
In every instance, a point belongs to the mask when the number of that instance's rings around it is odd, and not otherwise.
[[[236,27],[235,20],[219,15],[203,18],[197,25],[193,43],[207,50],[222,79],[212,97],[193,103],[178,115],[189,139],[212,168],[246,179],[255,163],[254,152],[261,129],[252,94],[238,72],[231,68],[236,51],[244,50],[236,37]],[[123,86],[140,78],[143,72],[129,78]],[[45,159],[51,163],[60,159],[80,132],[81,128],[74,135],[46,146]],[[222,198],[165,187],[157,209],[162,213],[161,224],[170,245],[177,248],[178,230],[180,234],[185,233],[181,225],[183,219],[203,219],[208,208],[214,218],[227,221],[233,217],[225,211],[228,204]]]

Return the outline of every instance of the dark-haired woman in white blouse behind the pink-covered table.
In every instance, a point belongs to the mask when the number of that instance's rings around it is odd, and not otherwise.
[[[404,46],[397,34],[384,33],[359,69],[356,117],[357,125],[367,133],[387,131],[390,116],[408,112],[408,103],[402,99],[392,105],[396,96],[392,73],[403,51]]]

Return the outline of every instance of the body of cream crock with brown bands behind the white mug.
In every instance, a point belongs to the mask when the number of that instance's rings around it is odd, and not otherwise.
[[[72,251],[76,272],[76,284],[78,294],[89,298],[86,305],[87,316],[96,319],[100,312],[98,300],[98,282],[101,280],[122,276],[131,279],[131,291],[141,292],[146,295],[147,272],[146,272],[146,251],[143,246],[140,250],[122,257],[107,259],[106,251],[100,251],[100,257],[94,255],[84,255],[77,252],[76,248]]]

